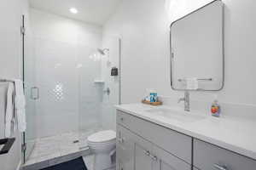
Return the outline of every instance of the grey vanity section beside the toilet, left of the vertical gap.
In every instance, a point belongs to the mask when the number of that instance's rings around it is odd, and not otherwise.
[[[153,135],[158,136],[157,133],[160,133],[160,131],[155,132],[154,126],[156,125],[154,123],[145,122],[121,111],[118,111],[117,122],[117,170],[191,170],[191,164],[168,151],[173,150],[172,147],[162,148],[160,145],[165,145],[165,143],[157,142],[159,139],[150,138]],[[137,123],[140,123],[141,126],[138,126]],[[163,132],[166,133],[166,131]],[[171,137],[180,139],[176,132],[171,133]],[[160,140],[165,140],[162,138]],[[169,138],[170,136],[166,136],[168,144],[172,145],[172,139]],[[175,142],[176,139],[173,141]],[[183,142],[180,144],[179,148],[182,148]],[[191,149],[191,140],[189,146]],[[191,150],[186,152],[191,156]]]

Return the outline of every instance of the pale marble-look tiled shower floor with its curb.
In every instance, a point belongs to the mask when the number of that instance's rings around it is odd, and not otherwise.
[[[31,155],[23,166],[25,167],[24,169],[49,167],[79,156],[89,155],[90,150],[86,139],[91,133],[95,132],[62,133],[56,136],[37,139]],[[79,140],[79,142],[74,143],[75,140]]]

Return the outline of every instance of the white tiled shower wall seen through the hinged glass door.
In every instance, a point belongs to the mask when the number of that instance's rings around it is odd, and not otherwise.
[[[79,120],[79,75],[72,43],[37,38],[36,83],[38,134],[41,137],[76,131]]]

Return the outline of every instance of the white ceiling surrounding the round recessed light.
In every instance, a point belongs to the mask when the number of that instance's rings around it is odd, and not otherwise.
[[[103,25],[118,7],[121,0],[30,0],[32,8],[59,14],[75,20]],[[77,8],[71,14],[69,8]]]

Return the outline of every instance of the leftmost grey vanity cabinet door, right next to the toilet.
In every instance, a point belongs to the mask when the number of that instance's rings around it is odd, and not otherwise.
[[[131,135],[125,127],[117,126],[117,170],[133,170],[134,142]]]

